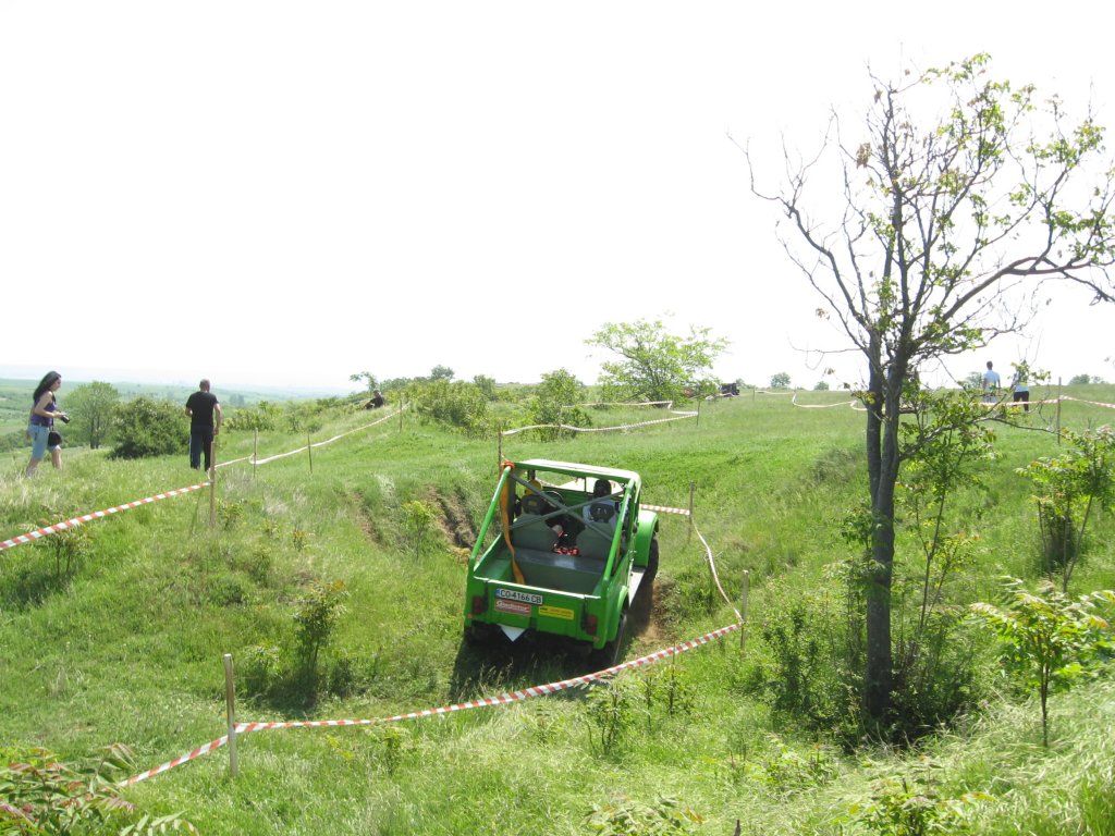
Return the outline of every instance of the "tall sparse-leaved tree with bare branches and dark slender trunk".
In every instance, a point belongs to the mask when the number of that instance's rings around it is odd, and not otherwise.
[[[784,243],[824,301],[818,315],[833,319],[865,362],[874,527],[864,707],[876,721],[886,719],[893,693],[894,494],[906,381],[927,363],[1022,329],[1045,282],[1115,301],[1105,272],[1115,261],[1115,167],[1103,129],[1090,118],[1069,124],[1031,86],[988,78],[988,65],[978,55],[898,81],[872,75],[863,124],[849,135],[834,116],[808,163],[787,152],[787,181],[773,193],[756,183],[768,166],[745,149],[752,191],[787,220]]]

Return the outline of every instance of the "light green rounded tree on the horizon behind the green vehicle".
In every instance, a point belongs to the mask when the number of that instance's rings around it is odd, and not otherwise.
[[[585,340],[619,356],[601,363],[600,382],[615,397],[632,400],[681,400],[695,385],[717,381],[712,363],[728,346],[708,328],[690,328],[688,337],[667,332],[661,320],[607,322]]]

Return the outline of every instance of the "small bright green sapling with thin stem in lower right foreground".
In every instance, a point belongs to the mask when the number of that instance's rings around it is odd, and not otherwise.
[[[1049,694],[1097,675],[1105,654],[1115,647],[1111,624],[1096,612],[1097,603],[1115,603],[1115,592],[1104,590],[1070,601],[1048,581],[1035,594],[1017,579],[1005,580],[1006,604],[979,602],[970,609],[996,632],[1007,669],[1038,690],[1041,742],[1048,747]]]

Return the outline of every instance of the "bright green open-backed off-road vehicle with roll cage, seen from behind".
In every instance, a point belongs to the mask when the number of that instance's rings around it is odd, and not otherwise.
[[[628,609],[658,570],[658,515],[639,507],[641,488],[631,470],[503,463],[468,558],[466,639],[533,630],[589,642],[593,664],[614,664]]]

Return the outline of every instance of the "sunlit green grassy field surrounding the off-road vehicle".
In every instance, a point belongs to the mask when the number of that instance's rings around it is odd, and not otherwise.
[[[1115,387],[1068,391],[1115,401]],[[1030,422],[1083,429],[1109,416],[1068,402],[1059,414],[1036,408]],[[593,411],[597,426],[648,417],[665,416]],[[350,412],[314,438],[368,421]],[[847,556],[836,531],[865,490],[862,431],[862,414],[846,405],[805,409],[785,395],[747,393],[702,406],[699,420],[555,443],[507,437],[507,458],[638,470],[648,503],[687,507],[692,495],[697,529],[734,602],[749,573],[746,650],[733,634],[609,687],[449,717],[258,732],[240,740],[235,779],[221,749],[127,797],[144,810],[181,810],[206,834],[727,835],[737,820],[744,834],[900,833],[872,829],[853,810],[885,795],[881,781],[906,778],[941,798],[981,794],[970,805],[972,833],[1115,832],[1109,680],[1054,698],[1045,750],[1035,704],[996,684],[989,661],[982,710],[917,750],[851,755],[779,725],[747,688],[766,620],[803,600],[836,606],[824,603],[826,567]],[[1034,577],[1030,487],[1015,468],[1056,450],[1046,432],[1004,425],[997,435],[987,487],[959,497],[980,509],[971,600],[995,597],[999,575]],[[253,444],[250,434],[224,435],[220,459],[246,456]],[[261,435],[259,454],[300,444]],[[224,653],[236,660],[240,720],[385,718],[583,672],[583,657],[564,645],[475,650],[460,641],[465,550],[498,456],[494,439],[405,416],[316,448],[312,470],[306,453],[223,468],[212,529],[207,493],[195,492],[90,523],[76,546],[47,537],[0,552],[0,747],[76,759],[118,741],[135,750],[135,771],[154,767],[224,733]],[[137,463],[68,450],[64,472],[32,480],[17,476],[22,464],[20,453],[0,476],[2,537],[196,480],[185,450]],[[403,512],[411,499],[438,512],[440,525],[420,544]],[[1115,586],[1112,521],[1101,526],[1076,592]],[[734,621],[686,519],[663,515],[660,542],[652,607],[626,659]],[[275,678],[274,660],[294,652],[294,615],[314,581],[342,581],[347,597],[309,697]],[[271,687],[249,687],[268,675]],[[593,810],[617,829],[593,829]],[[669,810],[691,810],[702,824],[615,824]]]

